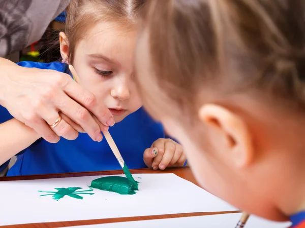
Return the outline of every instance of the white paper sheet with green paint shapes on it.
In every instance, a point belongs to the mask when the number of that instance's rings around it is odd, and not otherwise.
[[[69,196],[56,201],[41,191],[82,187],[101,176],[41,180],[0,181],[0,225],[72,221],[189,212],[236,210],[190,181],[174,174],[134,174],[139,181],[135,195],[119,195],[94,189],[94,195]],[[5,206],[4,206],[5,205]]]

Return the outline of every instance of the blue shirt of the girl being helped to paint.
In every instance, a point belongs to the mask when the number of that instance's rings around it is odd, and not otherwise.
[[[20,62],[18,64],[24,67],[55,69],[70,73],[67,64],[60,62]],[[12,118],[7,109],[0,106],[0,123]],[[143,108],[110,127],[109,132],[130,169],[147,168],[143,162],[144,150],[158,138],[165,138],[162,125],[151,119]],[[7,164],[0,166],[0,171],[6,166]],[[105,139],[95,142],[87,134],[79,133],[78,138],[73,141],[65,138],[60,138],[58,143],[49,143],[42,138],[37,140],[18,154],[16,164],[7,175],[117,169],[121,167]]]

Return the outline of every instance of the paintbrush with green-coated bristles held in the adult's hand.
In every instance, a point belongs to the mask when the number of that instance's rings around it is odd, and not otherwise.
[[[79,84],[82,86],[82,83],[80,82],[79,78],[78,78],[78,75],[74,69],[74,67],[70,64],[69,65],[69,69],[72,73],[72,76],[73,76],[73,79]],[[125,173],[127,179],[129,179],[134,185],[135,187],[137,188],[138,187],[138,183],[137,181],[135,181],[135,179],[133,178],[133,176],[131,175],[131,172],[129,171],[127,165],[125,164],[122,156],[120,155],[119,153],[119,150],[115,144],[115,142],[113,141],[109,131],[102,131],[105,138],[106,138],[106,141],[108,142],[111,150],[112,150],[112,153],[114,154],[115,158],[117,159],[119,165],[122,167],[123,169],[123,172]]]

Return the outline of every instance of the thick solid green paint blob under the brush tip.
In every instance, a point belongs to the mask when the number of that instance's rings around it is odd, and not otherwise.
[[[135,191],[138,190],[138,182],[135,182],[136,186],[126,177],[106,176],[93,180],[90,186],[121,195],[134,195],[136,194]]]

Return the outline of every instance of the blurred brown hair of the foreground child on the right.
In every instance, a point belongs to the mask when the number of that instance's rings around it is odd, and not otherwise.
[[[162,89],[146,93],[151,84],[138,76],[151,113],[170,111],[165,97],[198,111],[196,99],[213,90],[223,97],[245,92],[279,108],[304,107],[305,1],[152,0],[142,25],[150,70]]]

